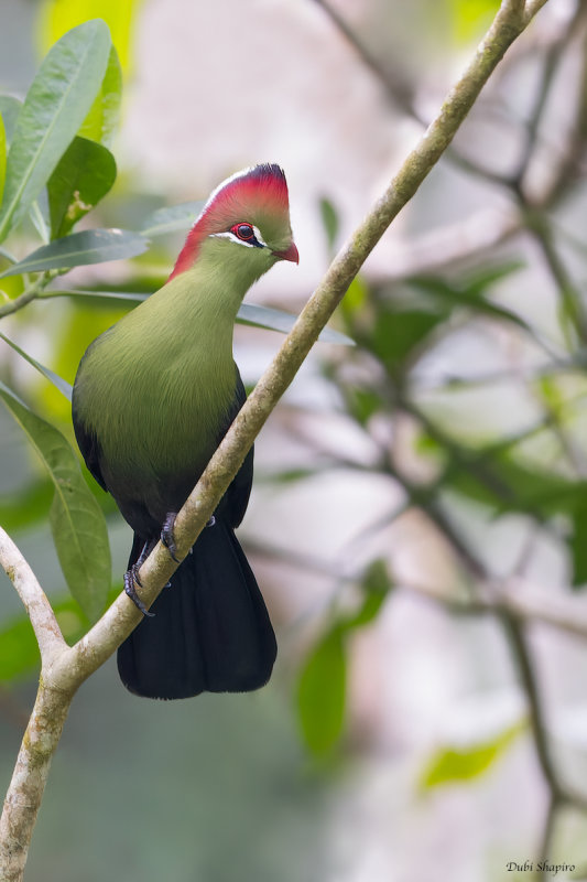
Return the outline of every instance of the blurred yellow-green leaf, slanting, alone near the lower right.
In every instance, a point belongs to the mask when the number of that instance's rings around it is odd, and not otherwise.
[[[422,774],[422,786],[430,789],[478,777],[507,751],[523,729],[523,723],[515,723],[491,741],[468,747],[443,747],[427,763]]]

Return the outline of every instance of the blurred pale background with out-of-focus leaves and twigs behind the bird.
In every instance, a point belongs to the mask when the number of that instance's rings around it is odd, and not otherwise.
[[[279,162],[301,262],[249,299],[297,312],[498,7],[0,0],[0,93],[22,97],[64,31],[105,18],[118,178],[88,224],[137,229]],[[149,702],[111,659],[74,701],[32,882],[554,878],[541,859],[587,879],[586,41],[587,3],[550,0],[352,283],[334,326],[357,345],[318,344],[257,443],[240,537],[278,632],[272,681]],[[154,290],[182,241],[67,280]],[[73,381],[121,314],[63,298],[2,330]],[[281,340],[237,326],[247,385]],[[3,344],[0,372],[73,437],[66,402]],[[79,621],[51,488],[3,409],[0,449],[0,523],[62,623]],[[119,587],[130,529],[96,493]],[[0,581],[7,786],[36,668]]]

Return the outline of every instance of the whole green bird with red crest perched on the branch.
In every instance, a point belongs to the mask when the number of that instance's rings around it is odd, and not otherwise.
[[[160,537],[174,556],[175,514],[242,407],[235,320],[278,260],[298,262],[287,184],[279,165],[256,165],[214,191],[167,282],[95,340],[79,364],[77,442],[134,530],[124,588],[149,617],[120,646],[118,669],[140,696],[248,691],[271,676],[275,635],[235,536],[252,450],[152,613],[135,582]]]

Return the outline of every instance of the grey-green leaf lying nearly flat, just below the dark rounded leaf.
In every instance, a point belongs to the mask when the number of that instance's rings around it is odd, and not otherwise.
[[[63,239],[55,239],[51,245],[43,245],[24,260],[0,273],[0,279],[4,276],[20,276],[23,272],[70,269],[87,263],[121,260],[137,257],[146,248],[146,239],[128,229],[84,229],[81,233],[72,233]]]

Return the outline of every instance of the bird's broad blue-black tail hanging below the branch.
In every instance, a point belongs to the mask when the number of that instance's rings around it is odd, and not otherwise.
[[[131,563],[141,542],[135,538]],[[232,529],[206,527],[118,650],[127,689],[146,698],[248,692],[271,676],[278,647],[263,598]]]

